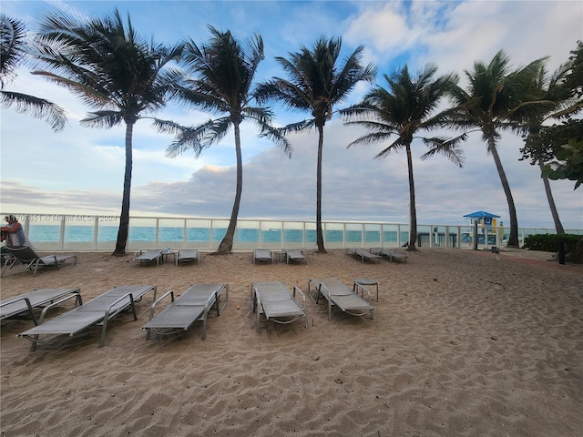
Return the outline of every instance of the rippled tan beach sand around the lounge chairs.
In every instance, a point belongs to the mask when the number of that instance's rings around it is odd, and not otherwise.
[[[177,336],[146,340],[123,313],[52,345],[16,338],[31,320],[3,320],[2,436],[560,436],[583,435],[583,266],[550,254],[420,249],[407,263],[363,264],[332,250],[308,263],[252,264],[251,253],[200,264],[133,266],[131,255],[81,253],[77,266],[8,271],[2,299],[79,287],[226,282],[230,299]],[[307,291],[309,278],[377,279],[374,319],[308,301],[308,328],[261,323],[254,281]],[[374,294],[374,293],[373,293]],[[321,301],[322,302],[322,301]],[[61,310],[68,310],[66,302]]]

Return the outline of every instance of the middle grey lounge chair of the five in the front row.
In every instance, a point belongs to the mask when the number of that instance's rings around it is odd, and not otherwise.
[[[220,297],[225,291],[225,301],[220,307]],[[164,310],[154,316],[156,306],[160,301],[170,296],[171,303]],[[209,310],[213,307],[217,310],[217,316],[227,306],[229,300],[229,284],[192,284],[188,290],[174,300],[174,291],[170,290],[156,300],[149,311],[149,321],[144,326],[146,340],[150,333],[169,335],[180,331],[189,330],[197,320],[202,320],[202,340],[207,338],[207,319]]]

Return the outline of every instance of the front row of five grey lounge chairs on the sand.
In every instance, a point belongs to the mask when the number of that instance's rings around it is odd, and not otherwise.
[[[32,342],[31,352],[36,351],[38,344],[75,337],[94,326],[101,328],[101,348],[105,345],[108,322],[122,311],[130,311],[134,320],[138,320],[136,304],[148,293],[152,295],[148,308],[149,320],[142,326],[146,330],[147,340],[152,334],[172,335],[189,330],[197,321],[202,321],[201,338],[205,340],[209,313],[216,311],[219,317],[225,309],[229,300],[229,284],[192,284],[178,297],[174,290],[169,290],[158,298],[156,285],[123,285],[85,303],[78,288],[34,290],[2,300],[0,320],[23,314],[31,317],[35,326],[18,334],[18,337]],[[254,282],[251,284],[251,312],[257,332],[260,332],[262,321],[270,320],[281,324],[302,320],[304,328],[307,328],[306,297],[316,305],[320,300],[327,302],[328,320],[332,320],[332,307],[353,316],[370,315],[373,320],[375,309],[371,293],[357,280],[351,288],[337,278],[312,278],[308,280],[307,293],[298,286],[290,290],[283,282]],[[46,320],[49,310],[67,300],[74,301],[72,310]],[[38,310],[39,316],[36,315]]]

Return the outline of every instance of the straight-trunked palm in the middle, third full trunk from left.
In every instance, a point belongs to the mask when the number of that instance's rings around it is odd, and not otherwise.
[[[289,80],[274,77],[258,87],[258,98],[281,100],[286,107],[309,111],[312,118],[283,127],[284,134],[316,127],[318,162],[316,171],[316,243],[318,252],[326,253],[322,235],[322,150],[324,125],[332,118],[333,107],[343,101],[361,80],[373,82],[376,69],[362,66],[363,46],[337,65],[342,48],[341,38],[319,38],[312,50],[302,46],[290,59],[276,57]]]

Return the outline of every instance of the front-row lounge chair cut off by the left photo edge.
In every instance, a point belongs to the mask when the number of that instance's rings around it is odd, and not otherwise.
[[[79,289],[40,289],[30,291],[0,302],[0,320],[14,317],[28,311],[31,319],[38,325],[45,319],[46,311],[66,300],[75,299],[75,306],[83,304]],[[48,305],[46,305],[48,303]],[[43,308],[37,320],[35,310]]]

